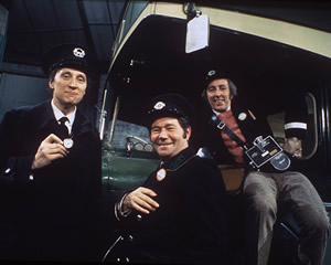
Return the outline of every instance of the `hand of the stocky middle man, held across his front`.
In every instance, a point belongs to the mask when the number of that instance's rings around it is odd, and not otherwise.
[[[150,211],[153,212],[159,208],[159,203],[151,199],[151,197],[156,195],[157,193],[152,190],[140,187],[126,195],[122,202],[122,210],[127,211],[134,208],[139,212],[149,214]]]

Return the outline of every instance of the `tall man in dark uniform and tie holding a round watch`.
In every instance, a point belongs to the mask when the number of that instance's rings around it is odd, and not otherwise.
[[[43,68],[52,99],[13,109],[1,123],[1,259],[95,258],[100,141],[77,108],[88,56],[71,44],[50,51]]]

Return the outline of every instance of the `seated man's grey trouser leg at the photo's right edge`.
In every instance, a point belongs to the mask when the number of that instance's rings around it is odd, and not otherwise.
[[[303,174],[289,171],[281,178],[280,203],[288,206],[300,227],[299,259],[302,264],[321,265],[330,229],[322,200]]]

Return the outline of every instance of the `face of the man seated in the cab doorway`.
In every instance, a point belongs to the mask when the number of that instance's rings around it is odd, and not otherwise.
[[[227,110],[232,99],[227,80],[212,81],[206,87],[206,97],[214,110],[218,113]]]

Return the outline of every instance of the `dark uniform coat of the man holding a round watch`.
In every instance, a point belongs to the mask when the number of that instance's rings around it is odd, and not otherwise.
[[[88,252],[100,189],[100,142],[77,109],[66,158],[31,171],[42,140],[63,139],[50,100],[6,114],[0,127],[1,255],[72,261]],[[33,173],[31,181],[29,176]]]

